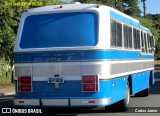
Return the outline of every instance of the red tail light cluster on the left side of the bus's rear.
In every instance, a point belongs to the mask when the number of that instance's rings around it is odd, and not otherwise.
[[[31,77],[19,77],[18,78],[18,91],[19,92],[31,92]]]

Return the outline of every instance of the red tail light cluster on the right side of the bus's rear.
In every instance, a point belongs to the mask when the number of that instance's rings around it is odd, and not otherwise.
[[[95,92],[98,91],[98,76],[97,75],[85,75],[82,77],[82,90]]]

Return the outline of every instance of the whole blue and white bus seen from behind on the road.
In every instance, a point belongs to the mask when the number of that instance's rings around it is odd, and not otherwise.
[[[17,106],[128,107],[154,84],[154,38],[104,5],[33,8],[21,17],[14,66]]]

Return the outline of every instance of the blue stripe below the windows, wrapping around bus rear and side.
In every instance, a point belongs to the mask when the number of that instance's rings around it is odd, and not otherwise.
[[[55,61],[80,61],[80,60],[132,60],[153,59],[153,55],[142,55],[140,52],[132,51],[57,51],[57,52],[30,52],[15,53],[14,62],[55,62]]]

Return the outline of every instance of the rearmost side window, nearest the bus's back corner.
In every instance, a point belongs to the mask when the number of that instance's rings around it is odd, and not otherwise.
[[[111,20],[111,46],[122,47],[122,24]]]

